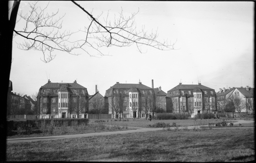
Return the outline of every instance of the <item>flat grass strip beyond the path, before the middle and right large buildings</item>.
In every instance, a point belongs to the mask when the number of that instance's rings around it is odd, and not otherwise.
[[[90,122],[95,121],[96,119],[90,119]],[[149,120],[146,120],[144,118],[135,118],[135,119],[129,119],[129,121],[125,121],[123,122],[122,119],[121,121],[114,121],[115,119],[112,119],[112,122],[110,121],[110,119],[101,119],[106,121],[106,124],[114,124],[114,125],[120,125],[120,126],[131,126],[131,127],[144,127],[144,128],[152,128],[149,127],[148,125],[153,125],[157,122],[164,122],[164,123],[170,123],[170,125],[172,126],[172,123],[176,123],[177,126],[196,126],[196,125],[208,125],[209,123],[218,123],[218,122],[222,122],[222,120],[216,119],[216,120],[212,120],[212,119],[208,119],[208,120],[200,120],[197,119],[196,121],[194,119],[186,119],[186,120],[151,120],[151,122]],[[108,122],[107,122],[108,120]],[[127,119],[124,119],[127,120]],[[227,121],[227,122],[237,122],[237,121]]]

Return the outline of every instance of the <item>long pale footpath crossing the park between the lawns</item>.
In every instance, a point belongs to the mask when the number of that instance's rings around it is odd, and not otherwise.
[[[243,124],[243,123],[253,123],[254,121],[245,121],[245,120],[233,120],[237,122],[233,122],[234,124]],[[228,123],[229,125],[229,123]],[[208,125],[204,125],[208,126]],[[199,128],[200,126],[188,126],[188,129]],[[25,142],[34,142],[34,141],[43,141],[43,140],[56,140],[56,139],[67,139],[67,138],[76,138],[76,137],[91,137],[91,136],[99,136],[99,135],[113,135],[113,134],[127,134],[127,133],[136,133],[136,132],[147,132],[147,131],[157,131],[163,130],[163,128],[142,128],[142,127],[129,127],[134,130],[124,130],[124,131],[111,131],[111,132],[97,132],[97,133],[88,133],[88,134],[74,134],[74,135],[59,135],[59,136],[49,136],[49,137],[25,137],[25,138],[13,138],[6,139],[6,143],[25,143]],[[174,130],[175,127],[171,127]],[[184,127],[179,127],[179,129]],[[237,129],[237,128],[254,128],[254,127],[232,127],[229,129]],[[212,128],[212,129],[227,129],[225,127],[221,128]]]

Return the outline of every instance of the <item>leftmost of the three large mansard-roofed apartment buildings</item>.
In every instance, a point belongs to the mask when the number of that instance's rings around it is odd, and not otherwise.
[[[88,117],[87,88],[76,83],[48,83],[41,86],[37,96],[39,118]]]

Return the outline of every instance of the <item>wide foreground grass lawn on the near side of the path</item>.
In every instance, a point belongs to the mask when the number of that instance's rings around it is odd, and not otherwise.
[[[233,161],[255,159],[254,129],[153,131],[7,144],[6,161]]]

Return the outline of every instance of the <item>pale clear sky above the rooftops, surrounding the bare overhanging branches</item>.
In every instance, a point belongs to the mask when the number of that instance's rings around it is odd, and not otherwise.
[[[21,1],[19,13],[29,12],[29,3]],[[62,30],[76,32],[88,26],[84,11],[71,1],[39,1],[37,6],[49,3],[47,12],[63,15]],[[78,56],[54,51],[56,57],[49,63],[40,60],[43,54],[35,50],[21,50],[16,36],[12,45],[10,80],[12,92],[35,94],[50,79],[51,82],[73,83],[87,88],[91,95],[95,85],[104,96],[116,84],[161,86],[167,93],[176,85],[198,84],[215,89],[254,87],[254,2],[183,2],[183,1],[77,1],[93,16],[113,20],[123,10],[125,16],[135,16],[136,30],[158,32],[158,41],[175,42],[174,50],[159,50],[143,46],[140,53],[130,47],[101,48],[108,56]],[[12,7],[12,1],[9,8]],[[10,12],[11,10],[9,10]],[[17,20],[20,17],[17,16]],[[25,24],[16,23],[15,30]],[[76,36],[80,38],[81,36]],[[94,55],[94,54],[93,54]]]

